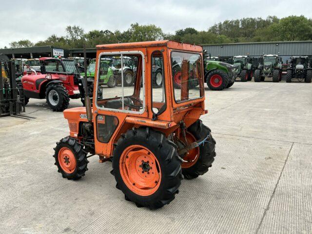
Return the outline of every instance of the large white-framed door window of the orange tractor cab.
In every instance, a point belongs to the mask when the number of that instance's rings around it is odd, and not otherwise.
[[[143,111],[145,100],[144,87],[140,85],[143,74],[141,54],[102,55],[99,61],[98,107],[122,112]],[[129,63],[131,67],[126,66]]]

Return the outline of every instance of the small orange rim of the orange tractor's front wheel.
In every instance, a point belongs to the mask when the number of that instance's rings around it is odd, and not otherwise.
[[[70,149],[67,147],[61,148],[59,150],[58,159],[59,166],[64,172],[71,174],[75,171],[77,165],[76,157]]]

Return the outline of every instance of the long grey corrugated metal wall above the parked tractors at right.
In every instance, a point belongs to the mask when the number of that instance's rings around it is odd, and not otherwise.
[[[312,55],[312,41],[291,42],[252,42],[231,43],[217,45],[203,45],[211,56],[247,55],[261,56],[264,54],[278,54],[281,56]]]

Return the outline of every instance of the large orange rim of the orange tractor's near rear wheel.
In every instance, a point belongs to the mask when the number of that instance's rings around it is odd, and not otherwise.
[[[119,170],[124,183],[137,195],[152,195],[159,188],[161,182],[159,162],[144,146],[128,146],[120,156]]]

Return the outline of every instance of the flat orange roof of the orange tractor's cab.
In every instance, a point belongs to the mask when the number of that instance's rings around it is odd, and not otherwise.
[[[117,49],[159,47],[159,46],[166,46],[170,49],[176,49],[176,50],[188,50],[188,51],[195,51],[195,52],[203,51],[203,48],[200,45],[182,43],[182,42],[177,42],[173,40],[155,40],[155,41],[143,41],[143,42],[104,44],[104,45],[97,45],[97,50],[117,50]]]

